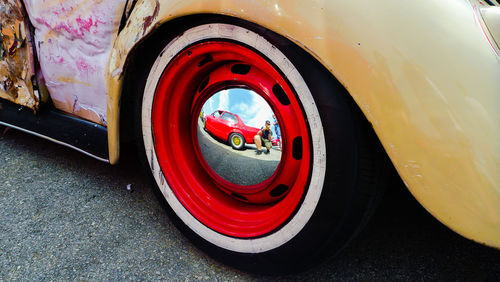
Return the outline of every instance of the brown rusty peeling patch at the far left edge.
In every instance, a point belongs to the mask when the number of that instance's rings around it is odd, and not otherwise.
[[[18,0],[0,2],[0,98],[36,110],[34,59],[23,7]]]

